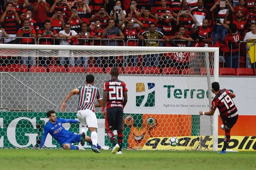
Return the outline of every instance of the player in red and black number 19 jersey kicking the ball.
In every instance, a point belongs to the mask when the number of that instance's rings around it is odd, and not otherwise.
[[[215,94],[215,97],[212,100],[211,110],[208,112],[200,111],[199,114],[212,116],[215,112],[215,109],[219,109],[220,117],[223,122],[221,128],[225,131],[225,137],[223,148],[218,153],[225,154],[226,148],[229,145],[230,130],[238,119],[238,111],[232,100],[232,98],[235,98],[236,95],[227,89],[220,90],[218,82],[212,83],[212,93]]]

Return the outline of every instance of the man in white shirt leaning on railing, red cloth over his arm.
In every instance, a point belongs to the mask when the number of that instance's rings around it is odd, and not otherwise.
[[[71,45],[70,42],[68,41],[71,41],[71,40],[74,40],[74,38],[80,37],[74,30],[70,30],[70,29],[71,29],[70,23],[66,22],[64,25],[64,30],[59,32],[59,37],[65,38],[65,39],[61,39],[60,45]],[[74,59],[73,52],[68,50],[61,50],[59,51],[59,56],[60,56],[59,60],[62,66],[64,66],[65,64],[69,64],[69,66],[75,66],[75,59]]]

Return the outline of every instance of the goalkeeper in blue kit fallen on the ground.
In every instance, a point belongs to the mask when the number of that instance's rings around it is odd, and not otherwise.
[[[62,126],[63,123],[80,123],[79,121],[74,119],[56,118],[55,111],[53,110],[47,112],[47,117],[49,118],[49,121],[44,125],[44,136],[41,139],[39,149],[43,147],[47,134],[49,133],[56,141],[59,142],[59,144],[61,144],[63,149],[85,150],[79,146],[72,145],[72,143],[80,142],[80,140],[82,140],[81,134],[71,133]],[[92,145],[91,138],[89,136],[84,136],[83,140]],[[99,146],[99,148],[101,147]]]

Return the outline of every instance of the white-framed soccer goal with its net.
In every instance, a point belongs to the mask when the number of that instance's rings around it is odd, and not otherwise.
[[[199,111],[211,106],[211,83],[219,79],[219,48],[0,44],[0,55],[1,148],[37,146],[48,110],[77,119],[77,96],[60,112],[66,94],[85,84],[88,73],[102,92],[116,66],[128,88],[123,148],[218,149],[218,113],[200,117]],[[101,110],[95,114],[98,142],[111,148]],[[65,128],[79,133],[78,124]],[[178,138],[176,146],[169,144],[171,137]],[[45,146],[61,148],[50,135]]]

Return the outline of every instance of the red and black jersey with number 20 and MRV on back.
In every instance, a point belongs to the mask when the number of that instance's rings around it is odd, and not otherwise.
[[[108,91],[107,109],[110,107],[123,107],[123,93],[128,91],[123,81],[118,79],[105,81],[103,91]]]

